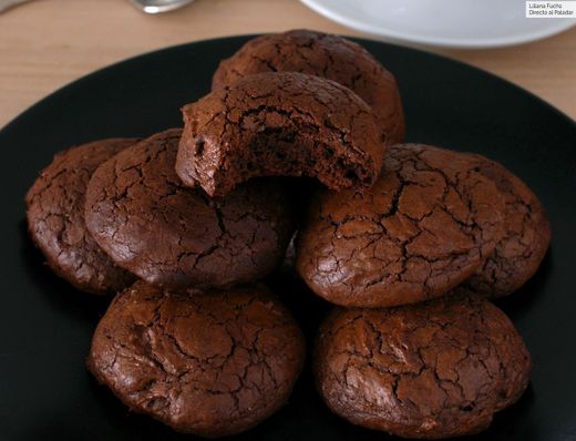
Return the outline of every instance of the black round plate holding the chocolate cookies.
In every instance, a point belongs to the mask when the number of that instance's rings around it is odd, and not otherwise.
[[[85,370],[92,331],[109,300],[74,291],[42,265],[27,237],[23,197],[59,150],[181,125],[179,107],[208,92],[218,61],[247,40],[203,41],[115,64],[50,95],[0,132],[0,439],[184,439],[128,412]],[[408,141],[479,152],[502,162],[539,195],[549,214],[553,244],[543,267],[527,286],[500,302],[533,355],[532,383],[477,439],[576,439],[576,124],[539,99],[471,66],[407,48],[360,43],[399,80]],[[298,281],[276,285],[310,342],[327,306]],[[388,435],[331,414],[307,368],[289,404],[238,438]]]

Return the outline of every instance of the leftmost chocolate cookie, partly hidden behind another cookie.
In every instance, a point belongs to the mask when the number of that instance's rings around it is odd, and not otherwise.
[[[84,197],[94,170],[136,141],[102,140],[58,153],[25,196],[32,240],[50,268],[78,289],[115,293],[135,280],[114,265],[90,236],[84,223]]]

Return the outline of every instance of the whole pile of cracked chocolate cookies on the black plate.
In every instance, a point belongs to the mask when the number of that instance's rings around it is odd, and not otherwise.
[[[363,48],[256,38],[183,117],[59,153],[27,195],[54,273],[115,294],[88,367],[126,406],[220,437],[288,401],[305,338],[263,280],[295,235],[295,276],[337,305],[311,357],[335,413],[440,439],[522,396],[529,353],[490,300],[537,270],[544,208],[488,158],[401,144],[394,76]]]

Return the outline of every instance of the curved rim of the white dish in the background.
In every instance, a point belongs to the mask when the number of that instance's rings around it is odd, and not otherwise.
[[[542,40],[548,37],[556,35],[568,29],[576,27],[576,20],[562,21],[556,27],[551,27],[537,32],[522,33],[516,37],[508,38],[483,38],[472,40],[462,40],[454,38],[430,37],[425,34],[416,34],[412,32],[394,31],[385,27],[378,27],[360,20],[350,19],[335,9],[326,6],[318,0],[300,0],[302,4],[310,8],[320,16],[335,21],[341,25],[351,28],[357,31],[367,32],[374,37],[391,38],[401,42],[410,42],[425,45],[433,45],[438,48],[454,48],[454,49],[486,49],[486,48],[504,48],[510,45],[517,45]]]

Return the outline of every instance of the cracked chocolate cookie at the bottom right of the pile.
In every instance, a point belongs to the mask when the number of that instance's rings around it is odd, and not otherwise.
[[[348,421],[407,438],[486,429],[529,380],[513,324],[480,296],[387,309],[337,308],[321,327],[315,373]]]

